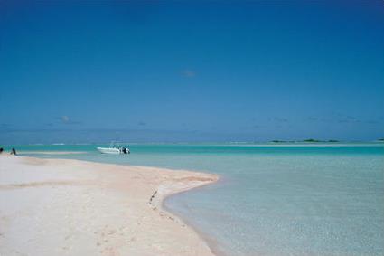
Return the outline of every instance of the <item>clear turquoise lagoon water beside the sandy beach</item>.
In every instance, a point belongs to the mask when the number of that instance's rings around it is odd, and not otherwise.
[[[220,175],[165,201],[228,255],[384,255],[384,145],[17,146],[27,156],[161,166]],[[33,151],[83,151],[41,155]]]

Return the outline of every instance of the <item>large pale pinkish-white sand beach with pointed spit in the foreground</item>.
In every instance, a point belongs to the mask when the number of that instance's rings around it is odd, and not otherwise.
[[[0,255],[213,255],[164,197],[217,175],[0,155]]]

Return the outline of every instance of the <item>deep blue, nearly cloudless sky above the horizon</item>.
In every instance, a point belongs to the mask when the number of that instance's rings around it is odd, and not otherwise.
[[[382,1],[9,2],[0,143],[384,137]]]

